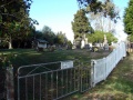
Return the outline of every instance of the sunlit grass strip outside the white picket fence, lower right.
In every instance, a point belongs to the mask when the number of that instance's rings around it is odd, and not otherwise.
[[[133,100],[133,53],[124,58],[105,81],[76,96],[76,100]]]

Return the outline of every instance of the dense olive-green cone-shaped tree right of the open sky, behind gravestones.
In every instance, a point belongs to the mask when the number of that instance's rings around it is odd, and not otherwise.
[[[79,10],[74,14],[74,20],[72,21],[72,30],[74,32],[74,39],[82,38],[83,34],[92,32],[92,27],[83,9]]]

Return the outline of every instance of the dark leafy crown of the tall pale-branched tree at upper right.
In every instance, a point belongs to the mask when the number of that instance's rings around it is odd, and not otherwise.
[[[94,4],[92,4],[94,3]],[[88,13],[93,13],[93,14],[99,14],[104,18],[110,18],[114,22],[120,18],[119,16],[119,9],[115,7],[113,1],[111,0],[105,0],[105,1],[92,1],[88,7],[86,7],[86,12]]]

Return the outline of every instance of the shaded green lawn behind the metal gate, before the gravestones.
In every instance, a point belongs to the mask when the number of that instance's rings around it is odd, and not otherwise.
[[[37,52],[33,49],[12,49],[0,50],[0,54],[14,54],[16,58],[11,60],[14,68],[20,66],[63,61],[71,59],[79,59],[81,62],[90,63],[91,59],[102,58],[109,54],[109,52],[90,52],[89,50],[55,50],[53,52]]]

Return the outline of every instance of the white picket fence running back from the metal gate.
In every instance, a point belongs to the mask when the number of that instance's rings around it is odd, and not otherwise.
[[[92,60],[91,86],[105,80],[123,57],[126,57],[126,47],[124,42],[120,42],[106,58]]]

